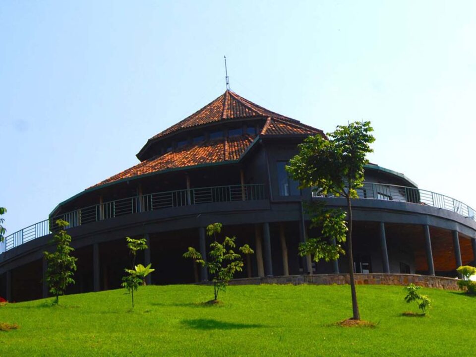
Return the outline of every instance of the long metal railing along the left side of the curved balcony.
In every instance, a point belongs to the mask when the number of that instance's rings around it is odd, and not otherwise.
[[[50,223],[50,221],[56,222],[58,219],[68,222],[68,228],[70,228],[162,208],[215,202],[255,201],[265,198],[264,184],[200,187],[122,198],[66,212],[23,228],[5,237],[3,242],[0,242],[0,254],[27,241],[50,234],[50,225],[52,225],[53,230],[57,228],[55,227],[56,224]]]

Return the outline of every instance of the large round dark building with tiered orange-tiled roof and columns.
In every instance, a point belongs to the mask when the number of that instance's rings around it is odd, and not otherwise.
[[[153,284],[192,283],[207,273],[182,254],[202,254],[205,227],[224,224],[224,234],[248,243],[255,254],[240,277],[347,272],[338,263],[310,263],[297,255],[308,230],[299,190],[285,165],[297,144],[319,129],[271,112],[227,90],[223,95],[150,138],[140,163],[61,202],[52,221],[70,223],[76,248],[76,284],[69,293],[118,288],[129,264],[124,237],[145,237],[141,257],[156,269]],[[475,212],[450,197],[419,189],[394,171],[367,165],[354,200],[355,270],[455,276],[474,264]],[[343,198],[314,197],[329,206]],[[0,296],[27,300],[47,296],[49,220],[16,232],[0,244]]]

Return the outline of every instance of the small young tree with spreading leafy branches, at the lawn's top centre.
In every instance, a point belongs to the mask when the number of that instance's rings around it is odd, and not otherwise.
[[[191,258],[196,263],[206,267],[213,275],[213,302],[218,301],[218,293],[225,291],[230,280],[238,271],[243,270],[243,260],[239,253],[235,253],[232,248],[236,247],[236,237],[225,237],[223,243],[217,241],[217,234],[222,230],[221,223],[214,223],[207,226],[207,235],[214,237],[214,242],[210,244],[209,260],[205,261],[202,255],[193,247],[188,247],[188,251],[183,254],[185,258]],[[239,251],[243,254],[253,254],[254,251],[248,244],[240,246]]]

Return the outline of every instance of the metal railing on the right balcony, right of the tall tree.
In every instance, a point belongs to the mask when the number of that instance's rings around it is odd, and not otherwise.
[[[466,203],[454,198],[420,188],[385,183],[364,182],[357,189],[358,198],[379,199],[385,201],[409,202],[446,209],[476,221],[475,210]],[[321,197],[312,192],[313,197]]]

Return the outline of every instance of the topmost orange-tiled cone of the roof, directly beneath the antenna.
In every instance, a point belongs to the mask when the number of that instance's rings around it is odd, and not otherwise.
[[[239,119],[239,118],[253,118],[253,117],[274,117],[279,119],[285,119],[293,122],[298,122],[295,119],[291,119],[281,114],[271,112],[266,108],[263,108],[253,102],[240,97],[235,92],[227,90],[220,97],[207,104],[202,109],[193,113],[191,116],[179,121],[177,124],[172,125],[168,129],[153,136],[149,140],[154,140],[163,137],[172,132],[180,129],[190,128],[193,126],[204,125],[226,119]]]

